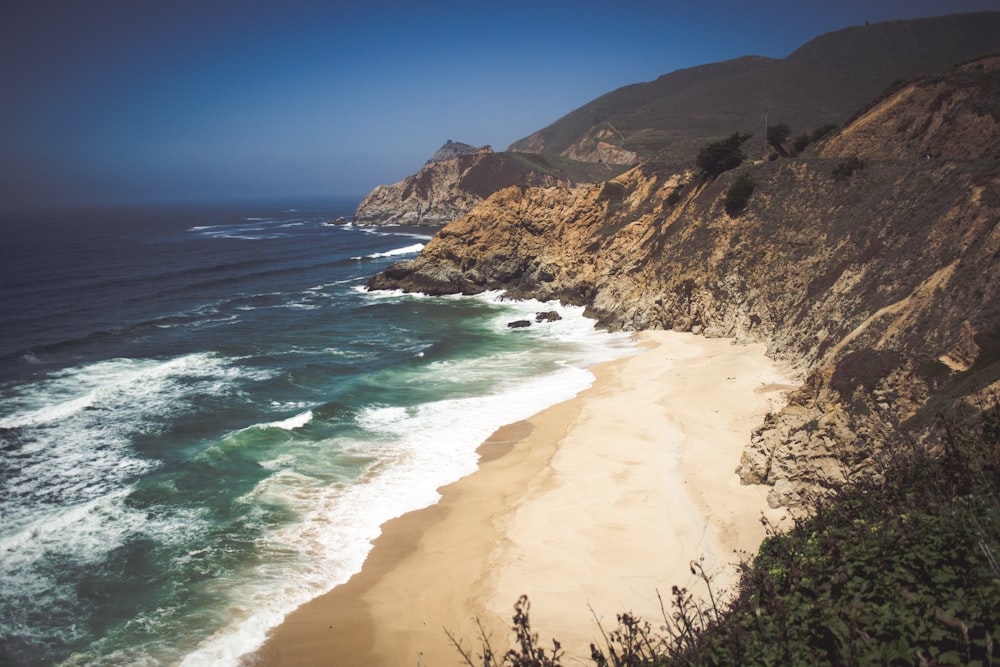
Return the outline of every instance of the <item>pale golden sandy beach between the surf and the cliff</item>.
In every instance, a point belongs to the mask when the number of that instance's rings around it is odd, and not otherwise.
[[[386,523],[362,572],[290,614],[253,664],[460,665],[445,630],[476,655],[478,620],[502,653],[521,594],[542,645],[591,664],[595,617],[655,624],[657,591],[702,590],[692,560],[731,586],[761,516],[784,516],[734,469],[792,381],[762,345],[641,336],[576,398],[500,429],[438,504]]]

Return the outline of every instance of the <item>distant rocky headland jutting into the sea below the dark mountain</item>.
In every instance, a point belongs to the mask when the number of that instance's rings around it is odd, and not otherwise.
[[[448,141],[413,176],[380,185],[354,212],[359,225],[443,225],[501,188],[596,181],[621,171],[541,155],[494,153]]]

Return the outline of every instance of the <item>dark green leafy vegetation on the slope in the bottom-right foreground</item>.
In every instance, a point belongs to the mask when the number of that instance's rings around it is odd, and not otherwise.
[[[1000,664],[1000,409],[943,423],[930,449],[886,451],[877,478],[771,534],[728,604],[674,588],[658,630],[619,615],[594,664]],[[546,650],[531,633],[527,599],[516,609],[515,648],[484,644],[466,664],[562,664],[558,642]]]

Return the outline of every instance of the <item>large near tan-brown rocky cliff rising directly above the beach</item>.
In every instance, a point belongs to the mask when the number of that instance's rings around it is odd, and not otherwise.
[[[799,158],[507,187],[370,287],[503,289],[612,329],[764,341],[803,384],[737,472],[802,503],[1000,390],[997,91],[1000,57],[984,58],[896,88]],[[731,216],[741,177],[753,192]]]

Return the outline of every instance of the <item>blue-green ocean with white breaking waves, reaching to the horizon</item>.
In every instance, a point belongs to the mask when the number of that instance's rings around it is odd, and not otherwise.
[[[0,663],[236,665],[634,352],[580,308],[366,291],[433,230],[332,224],[356,203],[3,214]]]

